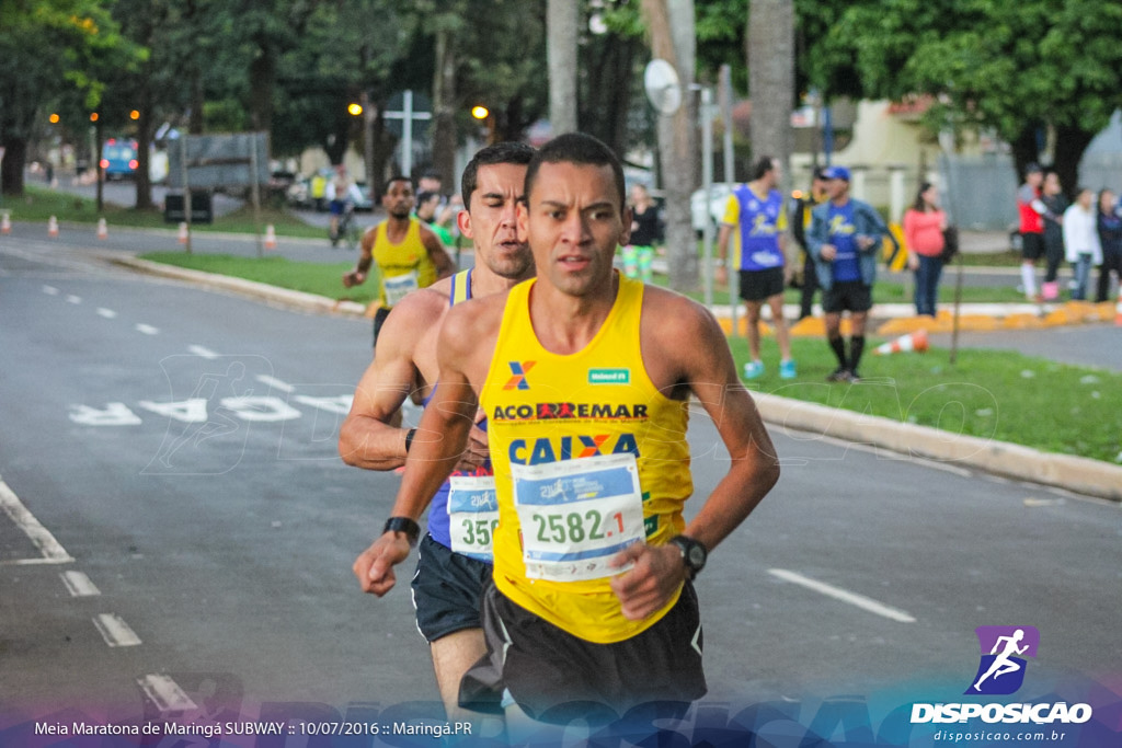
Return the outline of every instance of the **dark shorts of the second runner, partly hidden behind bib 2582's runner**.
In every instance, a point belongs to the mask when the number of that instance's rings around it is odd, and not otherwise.
[[[453,553],[426,533],[417,546],[412,583],[421,636],[435,641],[462,629],[480,628],[479,608],[490,578],[490,564]]]

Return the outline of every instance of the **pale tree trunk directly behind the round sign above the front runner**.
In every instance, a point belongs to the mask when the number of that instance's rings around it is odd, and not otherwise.
[[[692,17],[693,3],[689,2]],[[682,101],[692,98],[689,90],[693,82],[692,55],[679,55],[671,35],[666,0],[643,0],[643,17],[651,36],[651,52],[657,59],[665,59],[678,71],[682,85]],[[690,29],[692,34],[692,28]],[[688,50],[687,50],[688,54]],[[697,158],[693,146],[693,119],[690,108],[680,107],[670,116],[659,116],[659,157],[662,164],[662,188],[666,196],[666,264],[670,287],[674,290],[693,290],[699,285],[698,242],[690,221],[690,193]]]

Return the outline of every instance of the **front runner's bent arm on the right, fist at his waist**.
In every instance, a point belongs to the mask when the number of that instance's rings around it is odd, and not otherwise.
[[[657,304],[644,304],[644,313],[653,307],[659,310],[657,320],[651,320],[643,329],[657,332],[652,345],[644,349],[659,351],[666,361],[647,364],[647,370],[659,367],[670,378],[652,371],[652,379],[655,382],[678,379],[688,386],[712,418],[732,458],[728,473],[682,533],[712,551],[779,480],[779,459],[755,403],[736,375],[728,342],[717,321],[688,299],[663,303],[660,298]],[[682,345],[679,341],[693,342]],[[644,363],[647,361],[644,355]],[[637,620],[666,603],[684,579],[686,569],[681,552],[670,544],[657,547],[635,544],[617,556],[619,565],[627,560],[635,565],[613,579],[611,588],[623,603],[624,616]]]

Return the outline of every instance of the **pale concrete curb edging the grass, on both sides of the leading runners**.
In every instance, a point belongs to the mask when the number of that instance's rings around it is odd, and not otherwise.
[[[197,283],[305,311],[352,317],[361,317],[366,312],[362,304],[355,302],[339,302],[263,283],[149,262],[135,257],[113,256],[107,259],[137,271]],[[774,426],[813,436],[871,444],[895,454],[971,467],[1013,480],[1063,488],[1122,504],[1122,467],[1100,460],[953,434],[930,426],[793,400],[780,395],[753,391],[752,397],[764,421]]]

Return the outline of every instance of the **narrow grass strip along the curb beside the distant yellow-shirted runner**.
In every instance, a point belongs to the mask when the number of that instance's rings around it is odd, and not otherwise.
[[[186,255],[184,252],[149,252],[141,255],[140,259],[256,280],[270,286],[360,304],[369,304],[378,296],[378,276],[373,269],[361,286],[343,287],[342,276],[355,268],[353,262],[296,262],[284,257],[256,259],[229,255]]]

